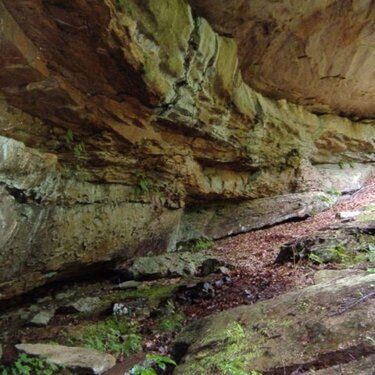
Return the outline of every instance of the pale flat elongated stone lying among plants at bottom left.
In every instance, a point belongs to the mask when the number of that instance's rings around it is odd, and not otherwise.
[[[16,348],[20,352],[46,358],[50,363],[90,374],[103,374],[116,364],[116,359],[110,354],[93,349],[50,344],[18,344]]]

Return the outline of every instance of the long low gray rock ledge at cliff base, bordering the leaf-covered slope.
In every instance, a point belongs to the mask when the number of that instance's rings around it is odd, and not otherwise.
[[[179,241],[219,239],[311,216],[328,209],[336,200],[323,192],[309,192],[188,208],[182,217]]]

